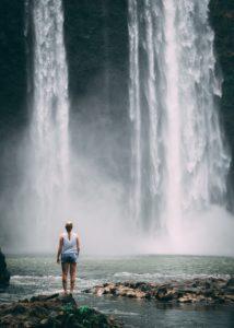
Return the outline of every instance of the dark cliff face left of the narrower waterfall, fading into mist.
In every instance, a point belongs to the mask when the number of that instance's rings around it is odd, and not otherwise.
[[[27,126],[24,0],[0,2],[0,203],[20,183],[17,149]],[[9,199],[9,198],[8,198]],[[11,197],[10,197],[11,199]]]

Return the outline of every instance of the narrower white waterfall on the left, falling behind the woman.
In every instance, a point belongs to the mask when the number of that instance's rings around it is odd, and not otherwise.
[[[68,68],[61,0],[34,1],[32,184],[37,226],[66,214],[69,188]],[[56,218],[57,216],[57,218]],[[62,218],[66,220],[66,216]]]

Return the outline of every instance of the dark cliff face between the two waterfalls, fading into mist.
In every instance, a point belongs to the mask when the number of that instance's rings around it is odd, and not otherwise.
[[[63,0],[63,12],[73,149],[126,180],[128,2]]]

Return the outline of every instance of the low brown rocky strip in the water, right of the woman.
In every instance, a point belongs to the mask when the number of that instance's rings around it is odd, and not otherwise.
[[[184,282],[117,282],[104,283],[84,291],[95,295],[113,295],[168,303],[203,303],[234,305],[234,278],[192,279]]]

